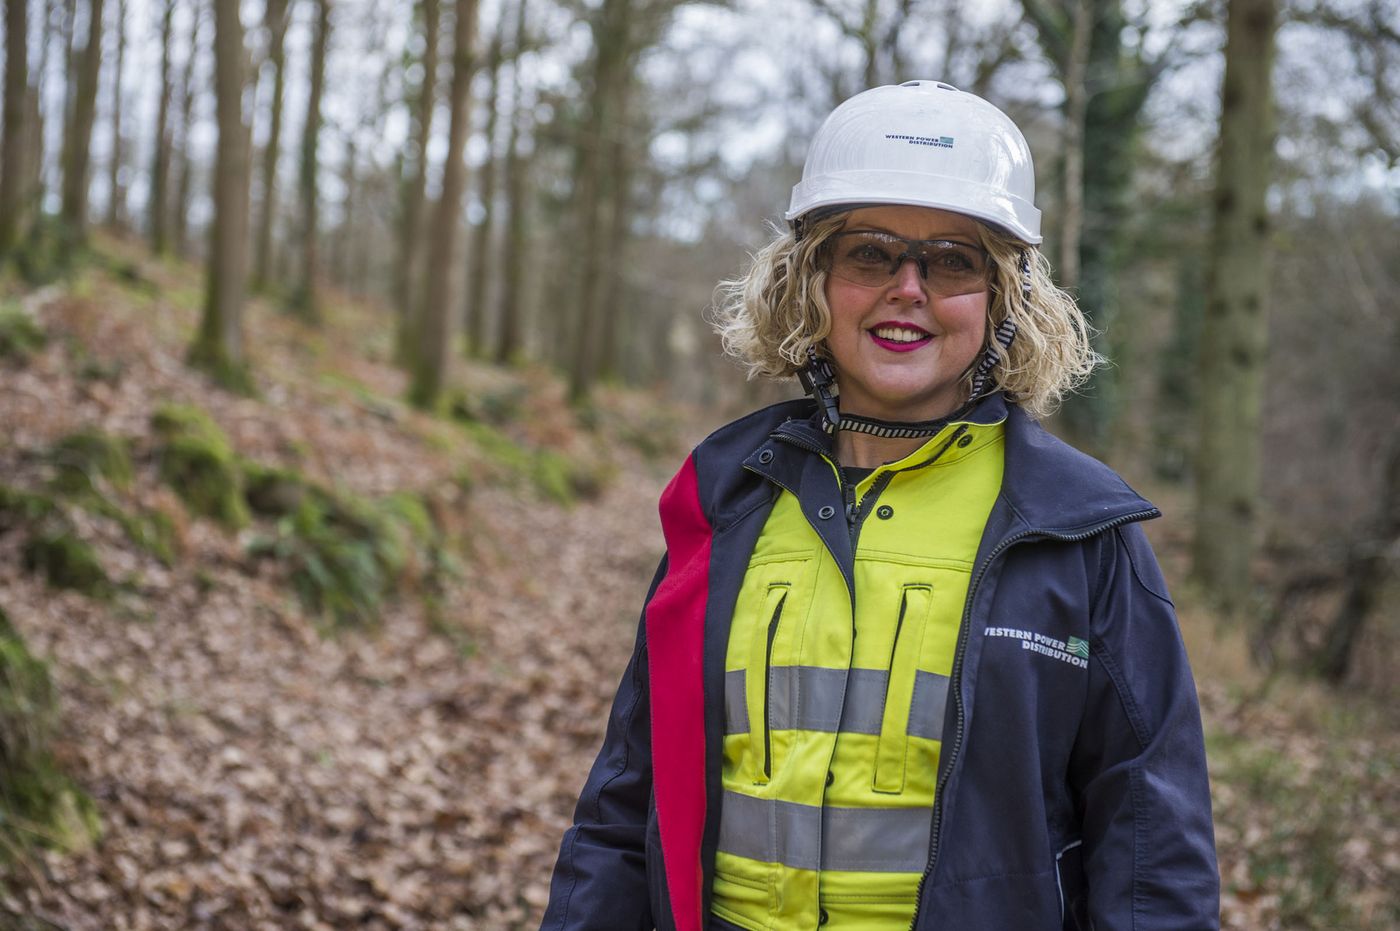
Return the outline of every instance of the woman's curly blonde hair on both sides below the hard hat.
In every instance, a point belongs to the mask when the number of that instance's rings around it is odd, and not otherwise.
[[[749,378],[792,377],[806,365],[808,349],[825,354],[832,330],[826,304],[825,244],[846,225],[847,213],[808,227],[798,239],[788,230],[774,230],[769,245],[752,256],[745,273],[715,288],[711,325],[725,354],[749,371]],[[987,335],[1008,316],[1016,339],[991,372],[991,382],[1033,417],[1044,417],[1060,400],[1082,385],[1103,358],[1089,344],[1092,329],[1074,298],[1050,279],[1050,262],[1026,244],[977,223],[979,245],[991,260],[991,300]],[[1021,256],[1030,265],[1029,288],[1023,287]],[[965,396],[973,372],[963,374]]]

